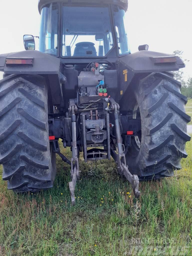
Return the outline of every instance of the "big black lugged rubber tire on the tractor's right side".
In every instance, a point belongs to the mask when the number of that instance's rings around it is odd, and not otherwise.
[[[126,94],[122,109],[133,110],[137,102],[141,116],[140,148],[132,137],[132,147],[126,163],[140,180],[159,179],[174,175],[180,160],[187,157],[187,98],[180,93],[181,84],[164,73],[151,73],[132,86]],[[134,95],[134,97],[133,97]]]

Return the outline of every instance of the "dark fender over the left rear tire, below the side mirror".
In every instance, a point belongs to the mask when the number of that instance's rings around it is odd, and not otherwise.
[[[34,58],[33,66],[9,66],[5,59],[13,58]],[[62,88],[60,83],[60,59],[49,54],[36,50],[12,52],[0,55],[0,71],[5,74],[39,74],[46,78],[49,83],[52,103],[61,104]]]

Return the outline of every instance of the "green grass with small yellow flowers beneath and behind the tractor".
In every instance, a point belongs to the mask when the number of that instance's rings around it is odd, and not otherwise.
[[[15,194],[0,177],[0,255],[191,256],[192,142],[186,151],[174,177],[140,183],[139,199],[112,160],[87,164],[81,156],[75,207],[69,168],[59,158],[46,191]]]

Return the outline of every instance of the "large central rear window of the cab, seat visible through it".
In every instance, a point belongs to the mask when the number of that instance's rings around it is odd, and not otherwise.
[[[62,7],[62,56],[105,56],[113,47],[109,7]]]

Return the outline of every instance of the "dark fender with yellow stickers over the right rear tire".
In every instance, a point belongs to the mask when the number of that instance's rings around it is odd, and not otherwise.
[[[155,64],[155,57],[175,57],[176,62]],[[122,56],[118,60],[118,74],[120,86],[118,99],[121,100],[127,88],[135,77],[145,77],[153,72],[170,72],[184,68],[184,62],[172,54],[154,51],[138,51],[130,55]]]

